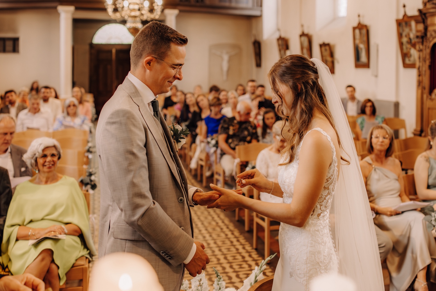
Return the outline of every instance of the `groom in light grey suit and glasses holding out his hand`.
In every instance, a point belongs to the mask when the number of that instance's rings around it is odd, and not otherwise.
[[[143,27],[132,43],[130,72],[103,106],[95,134],[101,183],[99,257],[139,254],[154,267],[166,291],[180,290],[184,268],[195,277],[209,263],[204,245],[193,240],[190,207],[219,198],[218,192],[187,185],[155,100],[183,78],[186,44],[184,35],[165,24],[152,21]]]

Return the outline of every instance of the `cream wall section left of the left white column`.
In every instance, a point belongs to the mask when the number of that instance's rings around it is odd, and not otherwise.
[[[0,53],[0,92],[34,80],[59,88],[58,11],[0,10],[0,37],[20,38],[19,53]]]

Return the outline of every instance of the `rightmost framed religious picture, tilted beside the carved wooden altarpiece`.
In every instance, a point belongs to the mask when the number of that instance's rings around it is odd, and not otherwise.
[[[398,42],[404,68],[416,68],[416,23],[419,15],[408,16],[404,7],[402,19],[397,19]]]

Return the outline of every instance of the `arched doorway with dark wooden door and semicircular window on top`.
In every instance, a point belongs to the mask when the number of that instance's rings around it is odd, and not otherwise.
[[[130,70],[133,36],[123,24],[106,24],[92,38],[89,56],[89,91],[97,114]]]

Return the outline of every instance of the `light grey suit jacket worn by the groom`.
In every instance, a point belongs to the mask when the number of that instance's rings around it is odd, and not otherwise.
[[[96,133],[100,167],[99,257],[136,253],[166,291],[179,291],[193,246],[187,177],[170,131],[129,79],[103,106]],[[177,171],[179,169],[179,171]]]

